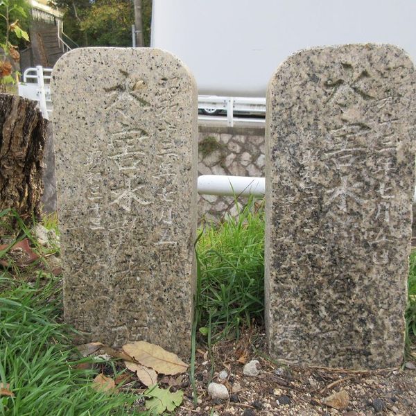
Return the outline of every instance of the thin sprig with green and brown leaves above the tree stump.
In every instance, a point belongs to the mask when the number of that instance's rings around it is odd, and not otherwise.
[[[26,18],[26,10],[17,1],[0,0],[0,17],[3,18],[6,24],[6,31],[0,37],[0,47],[3,49],[3,56],[0,58],[0,83],[3,85],[15,83],[13,75],[17,76],[17,71],[13,71],[10,60],[17,62],[20,59],[17,45],[10,42],[10,35],[14,34],[17,40],[29,40],[29,35],[21,28],[19,19],[12,21],[12,16]]]

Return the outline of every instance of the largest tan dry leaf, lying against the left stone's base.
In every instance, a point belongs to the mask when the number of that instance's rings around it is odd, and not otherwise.
[[[158,373],[174,375],[186,372],[188,365],[176,354],[167,352],[159,345],[136,341],[135,343],[123,345],[123,350],[135,361],[145,367],[153,368]]]

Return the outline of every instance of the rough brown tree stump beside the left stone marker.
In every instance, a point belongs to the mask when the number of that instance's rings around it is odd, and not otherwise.
[[[45,133],[35,101],[0,94],[0,212],[14,208],[25,221],[40,216]]]

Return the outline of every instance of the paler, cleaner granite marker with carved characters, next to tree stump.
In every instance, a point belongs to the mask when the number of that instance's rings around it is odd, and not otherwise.
[[[64,315],[85,341],[190,351],[196,83],[158,49],[76,49],[53,69]]]

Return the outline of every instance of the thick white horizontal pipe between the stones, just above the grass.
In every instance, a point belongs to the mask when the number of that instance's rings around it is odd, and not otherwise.
[[[201,175],[198,193],[221,196],[264,196],[264,177]]]

